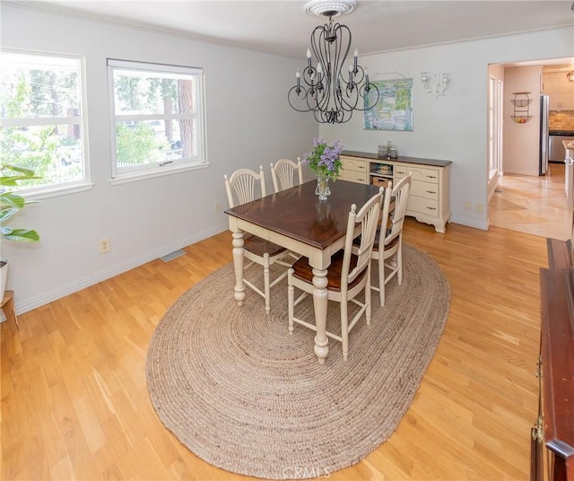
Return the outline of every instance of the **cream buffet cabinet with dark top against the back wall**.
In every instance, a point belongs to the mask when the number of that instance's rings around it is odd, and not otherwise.
[[[376,153],[344,151],[339,179],[386,186],[411,174],[411,192],[406,214],[445,232],[450,221],[450,161],[398,157],[379,159]]]

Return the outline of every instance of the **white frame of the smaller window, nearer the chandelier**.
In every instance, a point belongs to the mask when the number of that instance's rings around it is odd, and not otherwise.
[[[114,85],[114,73],[116,71],[131,70],[146,74],[170,74],[170,76],[185,75],[195,76],[196,92],[194,98],[194,112],[190,113],[157,113],[157,114],[117,114],[116,95]],[[169,175],[180,171],[190,171],[204,168],[209,165],[207,161],[207,141],[205,129],[205,99],[204,99],[204,69],[192,66],[172,66],[166,64],[152,64],[131,60],[108,59],[108,86],[109,86],[109,112],[110,112],[110,139],[111,139],[111,172],[112,184],[121,184],[138,179],[149,179]],[[181,118],[193,118],[196,120],[196,156],[179,158],[168,162],[150,162],[140,166],[118,167],[117,165],[117,122],[146,121],[146,120],[178,120]]]

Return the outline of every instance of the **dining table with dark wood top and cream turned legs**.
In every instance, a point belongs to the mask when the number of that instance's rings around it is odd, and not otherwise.
[[[229,215],[232,232],[234,298],[239,306],[243,305],[246,297],[243,283],[244,232],[309,258],[309,265],[313,267],[313,307],[317,328],[314,352],[318,363],[324,364],[329,353],[326,275],[331,257],[344,248],[351,206],[355,204],[358,212],[382,188],[337,180],[331,182],[331,195],[326,200],[318,199],[316,188],[317,180],[305,182],[232,207],[225,214]]]

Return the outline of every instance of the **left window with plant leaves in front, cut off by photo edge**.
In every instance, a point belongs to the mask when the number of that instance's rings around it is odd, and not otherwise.
[[[0,64],[0,162],[41,178],[18,189],[85,185],[81,59],[2,50]]]

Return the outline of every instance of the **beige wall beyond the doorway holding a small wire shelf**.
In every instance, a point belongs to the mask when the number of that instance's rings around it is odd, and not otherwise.
[[[538,175],[540,162],[540,75],[542,66],[506,68],[504,73],[504,173]],[[530,92],[532,103],[526,124],[517,124],[514,115],[514,92]],[[517,96],[517,99],[524,99]],[[524,109],[524,108],[519,108]]]

